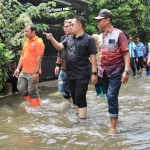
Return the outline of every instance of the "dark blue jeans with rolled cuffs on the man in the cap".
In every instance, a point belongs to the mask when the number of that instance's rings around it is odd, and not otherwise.
[[[110,77],[107,77],[106,72],[103,73],[102,82],[106,89],[108,99],[108,112],[111,119],[118,119],[119,107],[118,107],[118,95],[121,87],[121,77],[124,71],[124,67]]]

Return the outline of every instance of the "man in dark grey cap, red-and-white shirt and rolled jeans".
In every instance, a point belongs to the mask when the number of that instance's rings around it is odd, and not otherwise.
[[[124,33],[112,26],[113,14],[102,9],[98,16],[97,26],[101,30],[98,38],[100,62],[98,75],[107,91],[108,112],[111,121],[110,134],[116,133],[118,119],[118,94],[121,83],[127,83],[130,68],[128,42]]]

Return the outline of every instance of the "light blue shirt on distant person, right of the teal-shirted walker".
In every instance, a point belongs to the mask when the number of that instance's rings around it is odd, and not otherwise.
[[[135,45],[136,45],[136,48],[135,48],[136,58],[144,56],[144,49],[145,49],[144,44],[141,42],[138,42],[138,43],[135,43]]]

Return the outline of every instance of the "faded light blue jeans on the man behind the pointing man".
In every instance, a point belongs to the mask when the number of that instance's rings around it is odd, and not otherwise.
[[[66,100],[69,100],[71,98],[71,94],[69,91],[69,81],[67,79],[67,73],[64,70],[60,70],[58,76],[58,90]]]

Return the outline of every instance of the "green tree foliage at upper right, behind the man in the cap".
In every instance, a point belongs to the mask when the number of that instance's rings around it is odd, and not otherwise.
[[[114,14],[113,25],[133,37],[139,35],[144,43],[150,40],[150,1],[149,0],[87,0],[90,2],[86,19],[86,31],[98,33],[94,16],[103,8]]]

